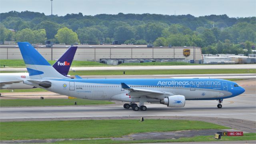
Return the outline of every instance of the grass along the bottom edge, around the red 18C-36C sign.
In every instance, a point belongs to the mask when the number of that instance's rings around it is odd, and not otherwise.
[[[111,140],[111,139],[103,139],[103,140],[65,140],[59,141],[55,143],[61,144],[124,144],[124,143],[157,143],[157,142],[207,142],[207,141],[234,141],[234,140],[256,140],[256,133],[244,134],[244,136],[222,136],[220,140],[216,140],[212,136],[194,136],[188,138],[179,138],[179,139],[165,139],[165,140],[128,140],[128,141],[120,141],[120,140]],[[225,143],[225,142],[223,142]]]

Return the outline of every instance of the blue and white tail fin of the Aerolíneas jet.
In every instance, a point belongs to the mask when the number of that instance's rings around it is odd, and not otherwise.
[[[18,42],[20,52],[26,64],[30,79],[63,79],[67,78],[57,72],[49,62],[30,43]]]

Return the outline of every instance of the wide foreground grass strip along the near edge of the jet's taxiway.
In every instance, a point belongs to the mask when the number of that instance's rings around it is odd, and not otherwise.
[[[49,138],[110,138],[152,131],[224,129],[202,121],[188,120],[84,120],[0,122],[0,140]]]

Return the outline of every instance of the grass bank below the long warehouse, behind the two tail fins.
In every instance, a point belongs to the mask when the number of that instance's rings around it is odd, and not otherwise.
[[[56,60],[48,60],[48,62],[53,65]],[[16,66],[25,66],[23,60],[0,60],[0,66],[16,67]],[[90,62],[90,61],[77,61],[73,60],[72,66],[107,66],[99,62]]]

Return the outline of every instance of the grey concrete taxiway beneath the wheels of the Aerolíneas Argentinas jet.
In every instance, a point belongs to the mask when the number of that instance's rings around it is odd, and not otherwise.
[[[242,95],[224,99],[221,109],[217,101],[186,101],[184,108],[145,103],[147,111],[124,109],[124,103],[92,106],[1,107],[0,121],[51,121],[79,119],[190,119],[208,121],[244,131],[256,132],[255,79],[238,81],[246,89]]]

